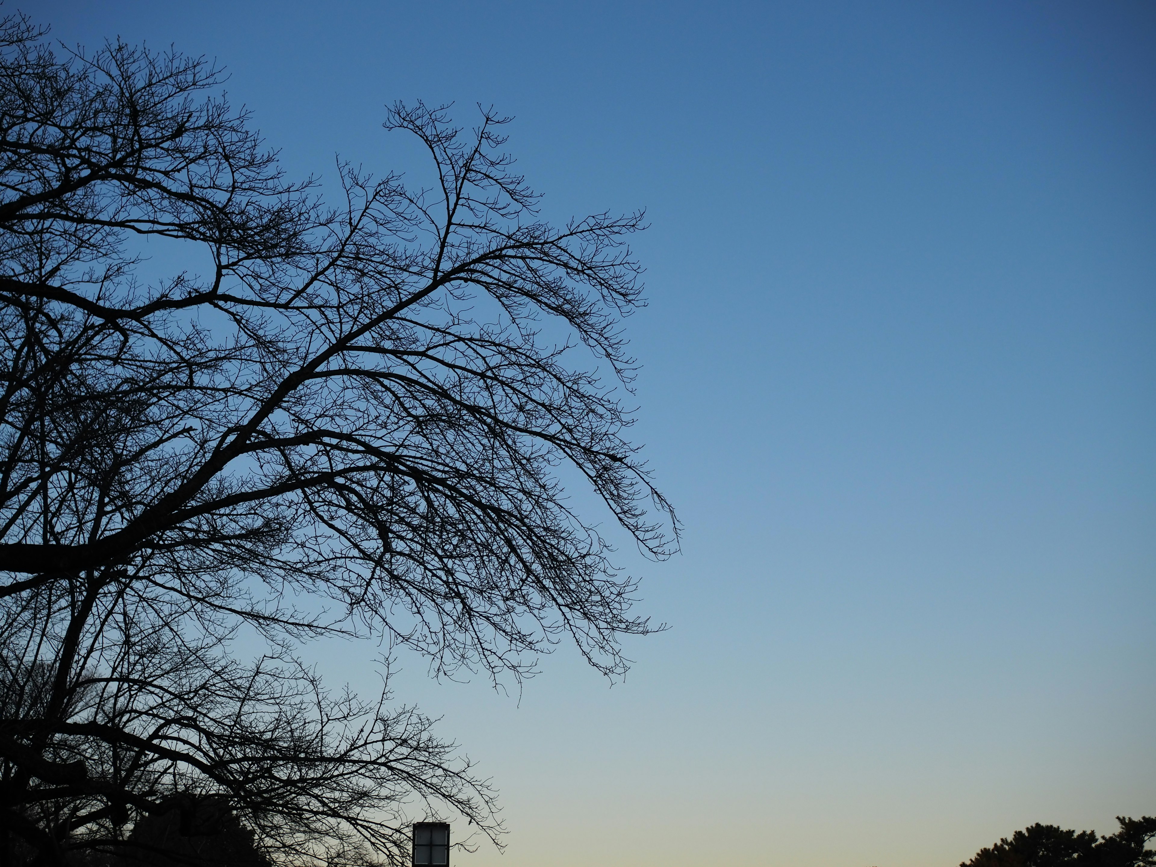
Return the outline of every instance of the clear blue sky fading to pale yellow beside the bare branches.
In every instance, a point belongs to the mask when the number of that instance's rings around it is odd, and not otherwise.
[[[547,214],[649,209],[636,430],[686,540],[623,562],[672,629],[520,701],[402,660],[503,792],[458,867],[954,866],[1156,814],[1156,5],[13,7],[217,58],[295,175],[482,102]]]

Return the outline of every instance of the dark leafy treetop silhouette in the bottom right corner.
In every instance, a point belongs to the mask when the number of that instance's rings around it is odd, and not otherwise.
[[[1156,851],[1146,849],[1156,837],[1156,817],[1117,817],[1120,830],[1111,837],[1095,831],[1069,831],[1033,824],[981,849],[959,867],[1149,867]]]

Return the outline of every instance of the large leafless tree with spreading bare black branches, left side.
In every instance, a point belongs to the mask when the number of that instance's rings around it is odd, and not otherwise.
[[[495,837],[430,720],[302,642],[520,677],[563,638],[622,672],[651,630],[560,482],[668,553],[625,439],[640,215],[542,221],[503,118],[422,104],[385,126],[429,185],[339,164],[331,206],[220,83],[0,27],[0,862],[398,862],[413,813]]]

